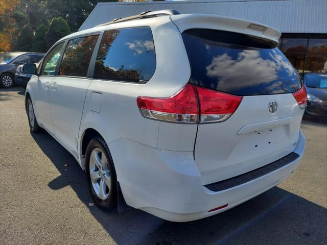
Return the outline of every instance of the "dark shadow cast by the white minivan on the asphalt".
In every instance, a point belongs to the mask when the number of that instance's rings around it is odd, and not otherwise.
[[[71,186],[117,244],[326,244],[327,209],[278,187],[194,222],[167,222],[136,209],[105,213],[88,206],[85,173],[74,157],[48,133],[32,136],[61,173],[49,187]]]

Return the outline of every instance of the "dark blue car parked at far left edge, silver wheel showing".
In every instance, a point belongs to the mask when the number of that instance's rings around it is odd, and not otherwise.
[[[44,54],[31,52],[8,52],[0,54],[0,85],[10,88],[15,83],[15,73],[18,65],[36,63]]]

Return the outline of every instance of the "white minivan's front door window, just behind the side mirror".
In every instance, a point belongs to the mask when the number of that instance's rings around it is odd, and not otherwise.
[[[60,57],[64,43],[60,43],[55,46],[47,56],[44,57],[44,61],[41,67],[41,76],[55,76],[56,67]]]

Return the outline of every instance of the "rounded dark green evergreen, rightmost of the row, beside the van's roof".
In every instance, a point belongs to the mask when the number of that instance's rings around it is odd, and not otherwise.
[[[54,17],[45,36],[45,49],[48,50],[56,41],[69,33],[71,33],[71,29],[69,29],[67,22],[62,17]]]

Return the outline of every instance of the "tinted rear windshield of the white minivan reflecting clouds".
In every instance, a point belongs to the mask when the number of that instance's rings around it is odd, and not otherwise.
[[[275,44],[243,34],[190,29],[182,34],[190,83],[235,95],[291,93],[301,87]]]

